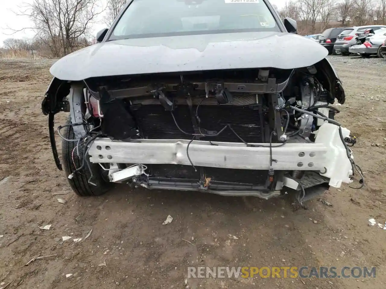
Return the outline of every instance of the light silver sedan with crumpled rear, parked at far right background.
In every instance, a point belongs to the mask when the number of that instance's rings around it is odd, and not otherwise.
[[[349,48],[350,53],[358,53],[362,57],[370,57],[372,54],[376,54],[378,57],[381,55],[381,46],[386,40],[386,28],[378,29],[376,31],[371,30],[371,36],[366,37],[363,44],[353,45]]]

